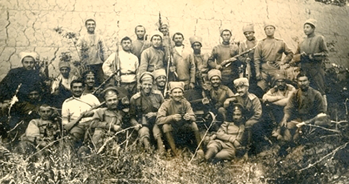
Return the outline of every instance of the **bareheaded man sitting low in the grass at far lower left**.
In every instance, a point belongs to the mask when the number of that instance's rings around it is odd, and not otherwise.
[[[53,118],[54,109],[47,105],[40,105],[39,119],[29,122],[26,132],[21,136],[21,142],[16,150],[22,154],[33,153],[36,149],[42,149],[56,140],[60,128],[57,120]]]

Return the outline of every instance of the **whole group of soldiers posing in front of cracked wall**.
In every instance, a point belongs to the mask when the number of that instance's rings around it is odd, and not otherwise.
[[[298,137],[298,123],[326,113],[322,61],[327,48],[315,34],[316,20],[304,23],[306,37],[295,53],[274,37],[276,26],[270,23],[260,41],[252,24],[243,27],[246,40],[239,43],[231,42],[230,29],[222,29],[222,43],[210,54],[201,51],[200,36],[190,37],[187,48],[182,33],[171,36],[169,26],[161,24],[150,35],[144,26],[136,26],[137,39],[122,38],[121,48],[117,45],[107,57],[104,40],[95,33],[96,22],[88,19],[85,26],[87,33],[77,46],[87,70],[79,76],[62,60],[59,76],[48,81],[36,65],[38,55],[21,53],[23,67],[11,69],[2,79],[3,139],[17,140],[21,150],[35,150],[65,131],[75,148],[90,141],[99,149],[107,137],[132,128],[146,152],[157,145],[160,154],[169,148],[175,156],[176,137],[189,132],[198,157],[233,159],[265,135],[292,142]],[[283,70],[289,64],[301,69],[293,81]],[[198,92],[199,101],[185,98]],[[213,114],[204,137],[196,123],[198,108]],[[267,127],[272,131],[265,131]]]

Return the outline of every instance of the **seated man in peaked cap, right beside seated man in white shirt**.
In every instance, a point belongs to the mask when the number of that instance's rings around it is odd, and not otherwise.
[[[108,87],[103,91],[107,107],[98,108],[94,111],[89,127],[95,129],[92,142],[96,149],[99,149],[105,138],[114,133],[110,131],[121,131],[124,112],[119,106],[118,90],[115,87]],[[138,126],[137,129],[139,129]]]

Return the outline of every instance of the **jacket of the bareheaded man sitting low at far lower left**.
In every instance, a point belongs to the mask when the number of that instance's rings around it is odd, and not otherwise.
[[[33,119],[29,122],[26,133],[21,137],[31,143],[39,144],[41,141],[51,142],[58,133],[59,125],[51,120]],[[45,140],[43,140],[45,138]]]

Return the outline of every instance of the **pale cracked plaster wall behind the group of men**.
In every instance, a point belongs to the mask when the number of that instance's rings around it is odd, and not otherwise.
[[[109,55],[115,51],[117,39],[135,38],[135,26],[144,25],[148,33],[156,30],[159,11],[170,32],[184,34],[186,46],[190,36],[202,36],[206,52],[220,42],[221,27],[230,27],[234,41],[240,41],[244,40],[242,26],[254,23],[255,35],[262,39],[264,21],[275,23],[275,36],[295,51],[304,37],[304,21],[314,18],[318,20],[317,32],[330,43],[331,62],[349,67],[349,6],[315,0],[0,0],[0,79],[22,65],[22,51],[35,51],[41,58],[53,60],[51,76],[58,75],[61,52],[70,51],[77,60],[71,40],[63,39],[56,27],[85,34],[85,20],[94,18]]]

